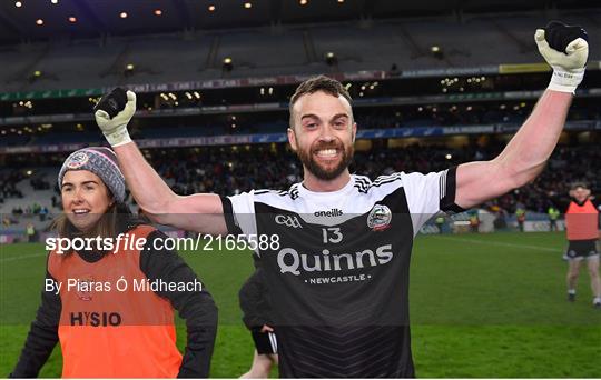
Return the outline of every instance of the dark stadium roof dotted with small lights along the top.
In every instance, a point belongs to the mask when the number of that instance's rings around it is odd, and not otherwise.
[[[599,8],[598,0],[3,0],[0,43],[483,12]]]

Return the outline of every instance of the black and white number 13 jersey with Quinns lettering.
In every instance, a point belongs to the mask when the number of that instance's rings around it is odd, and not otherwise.
[[[257,190],[224,199],[231,233],[257,249],[282,377],[413,377],[408,264],[413,239],[456,211],[455,168],[352,176],[341,190]]]

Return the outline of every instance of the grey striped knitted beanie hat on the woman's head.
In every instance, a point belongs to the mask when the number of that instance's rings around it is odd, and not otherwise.
[[[115,201],[125,201],[125,178],[117,164],[115,152],[105,147],[89,147],[69,154],[60,168],[58,184],[62,187],[62,178],[68,170],[88,170],[100,177],[112,193]]]

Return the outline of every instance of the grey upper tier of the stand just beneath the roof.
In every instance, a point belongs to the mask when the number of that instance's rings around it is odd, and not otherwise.
[[[589,14],[561,16],[587,24],[592,40],[601,39]],[[0,81],[4,91],[32,91],[215,79],[224,74],[226,57],[235,67],[227,78],[386,70],[393,63],[401,70],[532,63],[540,62],[532,26],[545,20],[541,13],[523,13],[36,42],[0,50],[0,59],[10,62]],[[441,49],[439,58],[430,51],[433,46]],[[327,52],[336,54],[334,67],[325,62]],[[591,51],[590,60],[599,60],[599,52]],[[125,77],[127,63],[136,70]],[[45,76],[32,80],[35,70]]]

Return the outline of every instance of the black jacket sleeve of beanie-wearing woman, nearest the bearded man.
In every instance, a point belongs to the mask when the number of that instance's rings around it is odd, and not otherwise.
[[[165,282],[198,281],[193,269],[169,250],[154,250],[154,240],[166,239],[159,231],[148,236],[140,256],[140,269],[150,281]],[[179,378],[208,378],[210,358],[217,333],[217,307],[213,297],[203,291],[159,291],[158,296],[168,299],[179,316],[186,321],[187,346],[179,368]]]

